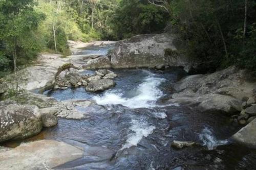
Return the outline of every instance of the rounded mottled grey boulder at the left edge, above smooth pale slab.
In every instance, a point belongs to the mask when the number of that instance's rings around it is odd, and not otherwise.
[[[38,107],[17,104],[0,107],[0,142],[24,139],[38,134],[41,129]]]

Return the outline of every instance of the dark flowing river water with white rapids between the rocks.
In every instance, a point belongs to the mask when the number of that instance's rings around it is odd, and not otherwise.
[[[89,118],[59,119],[58,126],[41,133],[84,148],[81,159],[56,169],[256,168],[256,151],[229,140],[238,127],[228,117],[166,104],[172,85],[185,76],[181,69],[113,71],[117,85],[102,93],[84,88],[45,93],[59,101],[96,102],[79,108],[90,113]],[[170,147],[173,140],[196,141],[203,147],[175,150]]]

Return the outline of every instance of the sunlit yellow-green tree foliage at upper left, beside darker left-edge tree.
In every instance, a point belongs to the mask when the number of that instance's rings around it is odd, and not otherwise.
[[[70,50],[67,40],[78,40],[82,37],[82,33],[75,19],[70,17],[69,12],[74,13],[74,10],[65,5],[65,2],[62,1],[60,4],[39,1],[36,11],[46,15],[46,19],[39,25],[39,34],[44,37],[45,47],[55,50],[55,31],[57,52],[63,55],[69,55]]]

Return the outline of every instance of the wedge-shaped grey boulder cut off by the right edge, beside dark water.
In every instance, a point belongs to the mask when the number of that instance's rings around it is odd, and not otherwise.
[[[232,138],[239,143],[256,148],[256,119],[252,120],[247,126],[234,134]]]

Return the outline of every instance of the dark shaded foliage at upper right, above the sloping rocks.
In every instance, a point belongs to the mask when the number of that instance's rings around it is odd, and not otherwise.
[[[256,70],[253,32],[256,5],[248,0],[245,38],[244,6],[245,2],[241,0],[170,1],[170,23],[186,42],[185,54],[201,63],[206,71],[233,64]]]

